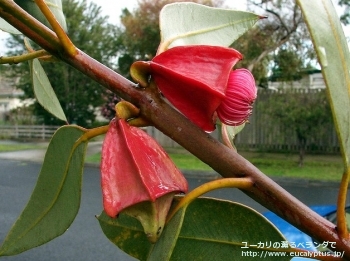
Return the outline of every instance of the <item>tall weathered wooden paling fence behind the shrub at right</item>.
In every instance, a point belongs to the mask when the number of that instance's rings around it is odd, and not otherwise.
[[[315,95],[320,89],[293,89],[292,93]],[[299,151],[299,144],[295,130],[283,126],[272,119],[259,103],[269,102],[276,94],[290,94],[291,90],[260,90],[254,104],[253,114],[249,118],[250,124],[236,137],[235,143],[241,150],[261,151]],[[283,110],[283,107],[280,108]],[[293,124],[293,123],[291,123]],[[318,126],[317,131],[306,141],[306,152],[312,153],[339,153],[339,143],[333,123]]]

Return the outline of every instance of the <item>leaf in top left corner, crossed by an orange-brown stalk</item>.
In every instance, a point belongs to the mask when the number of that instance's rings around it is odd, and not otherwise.
[[[14,0],[16,4],[26,10],[30,15],[35,17],[41,23],[51,28],[50,23],[45,18],[44,14],[41,12],[40,8],[36,5],[34,1],[28,0]],[[66,18],[63,14],[62,1],[61,0],[46,0],[45,3],[50,8],[51,12],[55,16],[58,23],[62,26],[63,30],[67,31]]]

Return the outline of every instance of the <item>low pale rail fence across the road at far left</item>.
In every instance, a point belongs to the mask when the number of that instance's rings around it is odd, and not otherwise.
[[[1,139],[49,140],[58,126],[0,125]]]

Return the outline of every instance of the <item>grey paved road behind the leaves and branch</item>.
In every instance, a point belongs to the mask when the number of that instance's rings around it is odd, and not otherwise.
[[[40,163],[0,158],[0,242],[25,206],[35,185]],[[192,173],[193,174],[193,173]],[[202,184],[205,176],[188,176],[190,188]],[[337,187],[323,183],[304,185],[283,180],[282,185],[308,205],[334,204]],[[254,207],[263,212],[265,208],[245,194],[234,189],[223,189],[210,194]],[[81,209],[69,230],[50,243],[1,261],[97,261],[134,260],[114,247],[103,235],[95,215],[102,209],[99,187],[99,169],[85,167]]]

